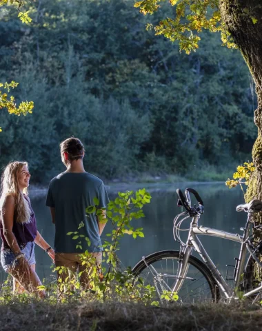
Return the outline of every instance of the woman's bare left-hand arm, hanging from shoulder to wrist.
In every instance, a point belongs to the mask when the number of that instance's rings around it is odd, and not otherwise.
[[[21,253],[21,250],[12,232],[12,226],[14,224],[14,197],[11,194],[3,201],[1,217],[3,221],[3,235],[14,255],[17,255]]]

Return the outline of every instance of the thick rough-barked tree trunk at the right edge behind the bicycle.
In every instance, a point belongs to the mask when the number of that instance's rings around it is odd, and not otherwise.
[[[258,108],[254,112],[254,123],[258,127],[258,137],[252,149],[252,159],[256,170],[252,174],[245,201],[262,200],[262,1],[261,0],[220,0],[219,7],[234,43],[241,51],[256,85]],[[256,23],[254,23],[256,19]],[[243,123],[243,126],[245,123]],[[261,213],[255,222],[262,223]],[[256,240],[262,239],[262,232],[256,233]],[[254,267],[256,279],[262,279],[262,270]]]

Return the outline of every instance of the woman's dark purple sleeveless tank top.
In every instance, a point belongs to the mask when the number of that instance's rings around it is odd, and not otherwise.
[[[30,207],[30,211],[31,211],[30,223],[23,223],[23,224],[18,223],[14,212],[14,224],[12,226],[12,232],[14,234],[14,237],[16,237],[17,243],[19,244],[19,247],[21,249],[23,249],[29,241],[34,241],[35,237],[37,237],[37,223],[34,216],[34,211],[32,210],[30,200],[26,196],[26,194],[23,194],[23,197],[25,197],[26,201],[28,201]],[[0,217],[0,234],[1,234],[1,239],[3,241],[1,250],[10,248],[6,241],[5,236],[3,235],[3,223],[1,217]]]

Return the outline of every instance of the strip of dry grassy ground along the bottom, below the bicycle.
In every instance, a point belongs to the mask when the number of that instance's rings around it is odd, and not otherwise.
[[[254,305],[201,304],[145,307],[134,303],[67,303],[43,301],[0,305],[1,331],[185,331],[261,330],[262,310]]]

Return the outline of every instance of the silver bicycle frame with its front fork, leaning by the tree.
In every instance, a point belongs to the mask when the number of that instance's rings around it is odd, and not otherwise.
[[[172,292],[179,292],[181,286],[183,285],[183,281],[188,272],[188,259],[192,252],[192,248],[194,248],[194,250],[196,250],[196,252],[198,252],[199,255],[201,256],[201,259],[203,260],[205,265],[207,265],[210,271],[212,272],[214,279],[216,279],[216,282],[218,283],[219,288],[221,288],[223,294],[225,295],[225,298],[230,299],[234,296],[234,290],[230,289],[225,279],[223,279],[221,273],[214,265],[212,259],[210,259],[210,257],[208,256],[208,253],[205,251],[205,248],[203,247],[201,241],[198,238],[198,235],[219,237],[223,239],[228,239],[230,241],[236,241],[241,244],[239,259],[238,259],[238,263],[236,264],[236,273],[234,277],[234,282],[235,282],[234,288],[239,288],[239,284],[241,282],[241,275],[243,274],[244,271],[245,256],[247,250],[248,252],[250,252],[252,257],[256,261],[258,261],[258,259],[254,254],[254,250],[248,243],[248,237],[250,236],[250,228],[251,228],[251,223],[250,223],[251,214],[248,213],[248,220],[246,222],[245,228],[241,229],[243,230],[243,236],[239,234],[232,234],[230,232],[225,232],[223,230],[216,230],[212,228],[199,226],[198,225],[199,217],[200,215],[196,215],[195,217],[192,218],[192,222],[190,224],[190,232],[188,234],[188,241],[186,242],[186,245],[181,246],[181,261],[179,263],[177,281],[174,284],[174,288],[172,288]],[[255,294],[261,290],[262,290],[262,284],[258,288],[245,293],[244,297],[249,297],[250,295]]]

